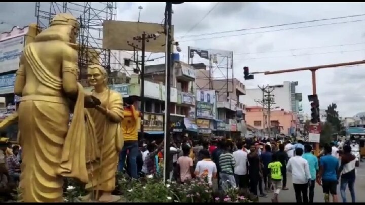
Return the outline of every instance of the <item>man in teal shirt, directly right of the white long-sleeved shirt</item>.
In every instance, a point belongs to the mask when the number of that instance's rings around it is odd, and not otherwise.
[[[308,161],[312,183],[309,187],[309,202],[313,203],[315,178],[318,172],[318,158],[312,154],[312,146],[304,145],[305,154],[302,155]]]

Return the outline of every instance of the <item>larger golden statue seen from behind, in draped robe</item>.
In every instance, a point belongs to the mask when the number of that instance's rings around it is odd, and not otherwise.
[[[86,163],[98,157],[97,149],[86,150],[96,138],[84,105],[95,103],[77,81],[78,31],[75,17],[58,14],[25,46],[20,58],[14,93],[22,97],[17,114],[24,202],[62,202],[63,177],[87,183]],[[70,106],[74,120],[68,127]]]

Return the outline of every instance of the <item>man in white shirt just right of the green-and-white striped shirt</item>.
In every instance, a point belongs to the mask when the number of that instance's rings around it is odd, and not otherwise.
[[[236,179],[236,185],[239,188],[246,188],[248,185],[247,178],[247,152],[242,150],[243,143],[241,141],[236,143],[237,151],[233,152],[233,157],[236,161],[236,166],[234,168],[234,177]]]

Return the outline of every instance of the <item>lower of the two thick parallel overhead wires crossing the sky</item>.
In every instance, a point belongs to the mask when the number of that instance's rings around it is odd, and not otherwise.
[[[234,34],[234,35],[213,36],[213,37],[197,38],[197,39],[190,39],[190,40],[179,40],[179,42],[194,42],[194,41],[197,41],[197,40],[207,40],[207,39],[214,39],[214,38],[233,37],[233,36],[241,36],[241,35],[248,35],[248,34],[258,34],[258,33],[270,33],[270,32],[275,32],[275,31],[294,30],[294,29],[300,29],[300,28],[310,28],[310,27],[319,27],[319,26],[326,26],[326,25],[354,23],[354,22],[361,22],[361,21],[365,21],[365,19],[354,20],[354,21],[336,22],[336,23],[325,23],[325,24],[317,24],[317,25],[301,26],[301,27],[293,27],[293,28],[282,28],[282,29],[276,29],[276,30],[259,31],[259,32],[251,32],[251,33],[240,33],[240,34]]]

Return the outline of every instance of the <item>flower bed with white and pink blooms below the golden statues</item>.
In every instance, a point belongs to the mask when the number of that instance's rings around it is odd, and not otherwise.
[[[70,183],[68,183],[70,184]],[[72,198],[84,195],[83,187],[72,183],[73,188],[65,191],[65,199],[72,202]],[[214,191],[213,187],[204,179],[193,179],[184,184],[169,181],[163,183],[159,177],[129,179],[117,175],[116,190],[113,194],[121,195],[126,202],[252,202],[249,193],[231,188],[226,192]]]

